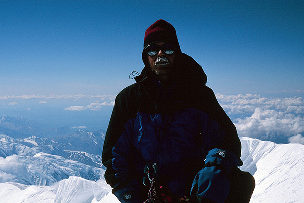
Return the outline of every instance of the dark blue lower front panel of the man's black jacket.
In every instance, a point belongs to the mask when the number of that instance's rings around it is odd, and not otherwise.
[[[156,162],[159,179],[178,196],[185,195],[198,172],[194,163],[202,167],[202,150],[217,146],[225,137],[217,122],[194,108],[172,115],[138,113],[125,129],[112,151],[115,176],[122,181],[131,180],[134,174],[143,177],[145,164]],[[203,137],[201,145],[196,142],[198,136]]]

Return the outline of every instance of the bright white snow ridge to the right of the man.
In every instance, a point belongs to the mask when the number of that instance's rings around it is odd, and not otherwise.
[[[243,171],[256,182],[250,202],[303,202],[304,145],[241,138]]]

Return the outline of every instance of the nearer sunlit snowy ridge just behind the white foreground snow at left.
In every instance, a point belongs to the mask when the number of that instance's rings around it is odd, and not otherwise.
[[[0,157],[0,165],[0,182],[12,181],[26,185],[52,185],[69,176],[96,181],[104,174],[101,168],[43,152],[35,156]]]

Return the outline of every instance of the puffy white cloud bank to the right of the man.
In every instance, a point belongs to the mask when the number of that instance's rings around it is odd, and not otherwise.
[[[304,99],[217,94],[240,137],[304,144]]]

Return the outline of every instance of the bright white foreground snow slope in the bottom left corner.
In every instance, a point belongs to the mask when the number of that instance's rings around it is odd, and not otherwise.
[[[119,203],[104,180],[70,176],[52,186],[0,183],[0,203]]]

